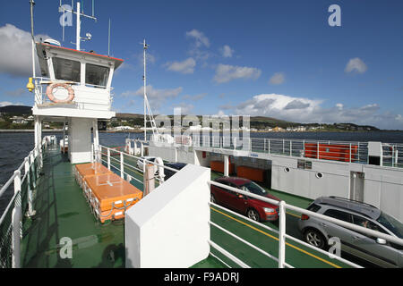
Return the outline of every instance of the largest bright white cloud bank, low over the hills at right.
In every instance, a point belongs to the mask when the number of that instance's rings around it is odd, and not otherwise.
[[[381,129],[403,130],[401,114],[381,112],[378,104],[361,107],[345,107],[338,103],[333,107],[323,107],[323,100],[305,97],[288,97],[278,94],[254,96],[238,105],[222,105],[221,109],[234,114],[269,116],[290,122],[351,122],[373,125]]]

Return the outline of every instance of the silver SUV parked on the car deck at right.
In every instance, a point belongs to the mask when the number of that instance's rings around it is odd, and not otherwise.
[[[374,231],[403,239],[403,224],[375,206],[347,198],[316,198],[308,210],[330,217],[355,223]],[[309,217],[306,214],[298,221],[304,240],[317,247],[328,248],[331,237],[339,238],[341,250],[382,267],[403,267],[403,246],[352,231],[335,223]]]

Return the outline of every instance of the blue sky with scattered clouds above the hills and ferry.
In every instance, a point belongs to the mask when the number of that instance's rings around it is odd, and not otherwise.
[[[0,40],[27,36],[27,2],[4,3]],[[62,41],[59,1],[36,3],[35,34]],[[328,24],[331,4],[341,9],[340,27]],[[90,13],[90,1],[83,5]],[[403,130],[401,1],[96,1],[95,12],[96,23],[82,20],[82,35],[90,31],[92,39],[81,48],[107,54],[111,18],[111,54],[124,59],[113,81],[117,112],[142,113],[139,43],[146,38],[154,113],[173,114],[182,106],[184,114],[265,115]],[[75,17],[65,33],[62,45],[74,47]],[[0,41],[0,105],[33,105],[32,94],[22,89],[30,63],[10,63],[16,48],[6,43]]]

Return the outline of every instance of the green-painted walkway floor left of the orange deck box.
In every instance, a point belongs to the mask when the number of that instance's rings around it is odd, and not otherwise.
[[[74,180],[73,165],[57,150],[47,151],[36,190],[33,220],[23,223],[23,267],[124,267],[123,222],[101,225],[90,213]],[[72,259],[62,259],[59,243],[73,240]]]

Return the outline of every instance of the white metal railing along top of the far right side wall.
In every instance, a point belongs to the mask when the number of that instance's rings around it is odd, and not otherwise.
[[[181,135],[181,138],[184,136]],[[346,163],[369,164],[368,142],[334,141],[311,139],[237,138],[225,135],[198,135],[183,140],[153,138],[154,142],[175,147],[217,147],[221,149],[244,150],[280,156],[295,156],[316,160],[330,160]],[[403,167],[403,144],[382,143],[382,165]]]

